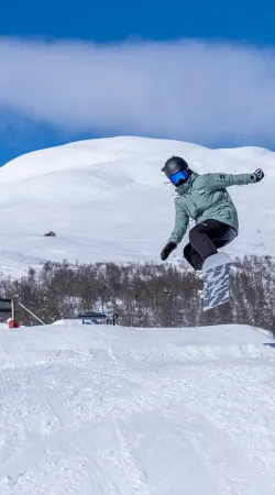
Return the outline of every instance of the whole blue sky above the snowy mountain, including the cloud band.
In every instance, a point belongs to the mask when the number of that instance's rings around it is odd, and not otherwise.
[[[118,134],[275,148],[274,14],[265,0],[3,0],[0,164]]]

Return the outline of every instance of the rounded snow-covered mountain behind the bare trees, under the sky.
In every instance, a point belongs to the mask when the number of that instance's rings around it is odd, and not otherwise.
[[[0,268],[16,275],[43,260],[160,261],[174,227],[174,189],[160,172],[172,154],[198,173],[263,167],[264,182],[230,189],[241,230],[227,252],[274,253],[274,153],[114,138],[38,151],[0,169]],[[43,238],[50,229],[58,237]],[[180,257],[178,249],[172,260]]]

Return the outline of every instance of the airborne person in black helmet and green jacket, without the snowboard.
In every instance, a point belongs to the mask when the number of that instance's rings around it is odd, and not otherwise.
[[[199,175],[179,156],[172,156],[162,172],[176,186],[177,197],[175,228],[161,258],[167,260],[177,248],[191,218],[196,226],[189,231],[184,257],[196,271],[201,271],[207,257],[217,254],[219,248],[229,244],[238,235],[238,213],[227,187],[257,183],[264,173],[257,168],[253,174]]]

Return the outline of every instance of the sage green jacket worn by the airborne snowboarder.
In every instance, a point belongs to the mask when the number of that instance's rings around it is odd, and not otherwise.
[[[238,213],[227,187],[255,183],[255,174],[204,174],[193,173],[185,184],[176,187],[176,220],[169,242],[178,244],[186,233],[189,219],[220,222],[239,229]]]

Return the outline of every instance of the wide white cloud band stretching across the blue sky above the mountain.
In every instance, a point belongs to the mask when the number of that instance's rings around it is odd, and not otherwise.
[[[0,37],[0,67],[1,107],[70,131],[197,142],[273,139],[273,50]]]

